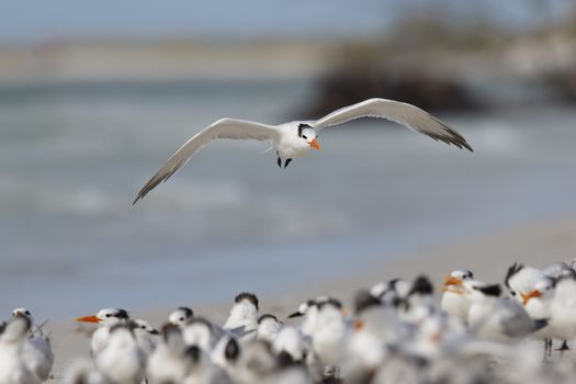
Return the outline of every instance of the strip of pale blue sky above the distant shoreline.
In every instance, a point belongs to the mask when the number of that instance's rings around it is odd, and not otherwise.
[[[0,42],[101,37],[305,38],[382,33],[406,12],[434,4],[445,18],[474,18],[478,11],[516,27],[552,18],[572,0],[0,0]],[[547,12],[547,11],[546,11]],[[547,18],[547,16],[546,16]]]

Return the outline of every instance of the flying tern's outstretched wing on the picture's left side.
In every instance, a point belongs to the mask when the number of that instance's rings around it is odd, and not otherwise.
[[[185,166],[190,158],[202,147],[212,140],[228,138],[236,140],[272,140],[280,135],[276,127],[256,122],[248,122],[237,118],[221,118],[208,125],[200,133],[189,139],[180,149],[178,149],[165,165],[148,180],[146,185],[138,192],[133,204],[143,199],[160,182],[168,180],[177,170]]]

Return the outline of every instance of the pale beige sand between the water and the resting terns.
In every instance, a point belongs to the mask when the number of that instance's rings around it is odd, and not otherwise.
[[[478,280],[501,282],[506,269],[513,262],[542,267],[574,257],[576,257],[576,217],[549,219],[522,224],[475,239],[456,240],[434,249],[423,249],[416,255],[400,255],[392,261],[371,266],[364,273],[314,285],[300,284],[275,297],[269,297],[264,293],[257,294],[261,298],[262,313],[270,312],[285,317],[306,298],[329,293],[349,303],[357,289],[370,287],[377,281],[392,278],[411,279],[418,273],[426,273],[439,284],[450,271],[466,268],[474,271]],[[229,305],[230,303],[214,303],[194,307],[194,310],[199,315],[223,323]],[[132,315],[159,326],[165,321],[170,309],[150,309]],[[60,382],[65,368],[74,358],[89,355],[87,334],[89,328],[69,321],[48,324],[46,329],[52,332],[56,355],[54,375],[56,382]]]

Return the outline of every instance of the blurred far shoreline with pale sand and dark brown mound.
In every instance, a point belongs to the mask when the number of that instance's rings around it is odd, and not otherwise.
[[[350,41],[4,45],[0,87],[307,81],[316,94],[304,117],[376,95],[432,112],[576,103],[576,32],[569,24],[521,37],[487,30],[459,34],[430,20],[408,20],[391,34]],[[399,38],[406,31],[410,38]]]

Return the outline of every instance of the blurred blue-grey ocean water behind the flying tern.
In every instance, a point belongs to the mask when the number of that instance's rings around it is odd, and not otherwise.
[[[422,247],[576,213],[576,110],[442,115],[470,154],[382,121],[320,134],[286,170],[218,142],[136,206],[192,134],[281,123],[306,83],[0,87],[0,308],[39,318],[262,295]]]

